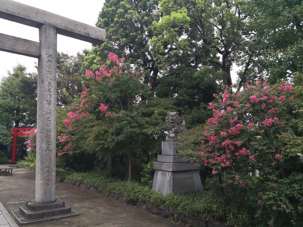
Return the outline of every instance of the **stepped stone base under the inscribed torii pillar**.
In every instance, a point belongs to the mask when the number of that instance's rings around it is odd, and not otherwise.
[[[19,209],[12,210],[12,213],[21,224],[43,222],[80,214],[60,199],[48,203],[29,201],[25,203],[25,206],[19,206]]]

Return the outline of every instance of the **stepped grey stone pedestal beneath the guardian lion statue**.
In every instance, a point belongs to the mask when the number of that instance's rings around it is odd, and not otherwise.
[[[178,138],[166,138],[162,142],[162,155],[158,155],[158,162],[154,162],[152,189],[162,195],[183,195],[185,192],[203,190],[198,164],[185,163],[182,156],[176,156],[177,141]]]

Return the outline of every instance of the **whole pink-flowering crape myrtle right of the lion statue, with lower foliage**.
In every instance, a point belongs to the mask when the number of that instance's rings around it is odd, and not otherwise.
[[[255,212],[258,218],[242,225],[302,225],[303,140],[294,133],[290,104],[297,106],[301,96],[286,81],[270,86],[259,80],[234,94],[230,89],[223,85],[209,103],[213,117],[200,136],[200,150],[193,154],[183,146],[179,153],[211,169],[224,206],[236,202]],[[250,175],[255,169],[258,177]]]

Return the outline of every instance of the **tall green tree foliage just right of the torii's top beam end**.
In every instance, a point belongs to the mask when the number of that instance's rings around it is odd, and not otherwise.
[[[106,41],[92,49],[92,54],[86,57],[88,65],[106,59],[109,52],[113,52],[145,70],[144,83],[155,87],[159,68],[148,42],[154,36],[152,22],[160,19],[158,3],[158,0],[105,1],[96,25],[106,29]]]

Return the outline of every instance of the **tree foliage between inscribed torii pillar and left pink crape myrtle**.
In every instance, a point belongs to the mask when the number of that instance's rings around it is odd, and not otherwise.
[[[82,69],[84,54],[76,56],[62,52],[57,54],[57,105],[69,105],[79,98],[82,91]]]

